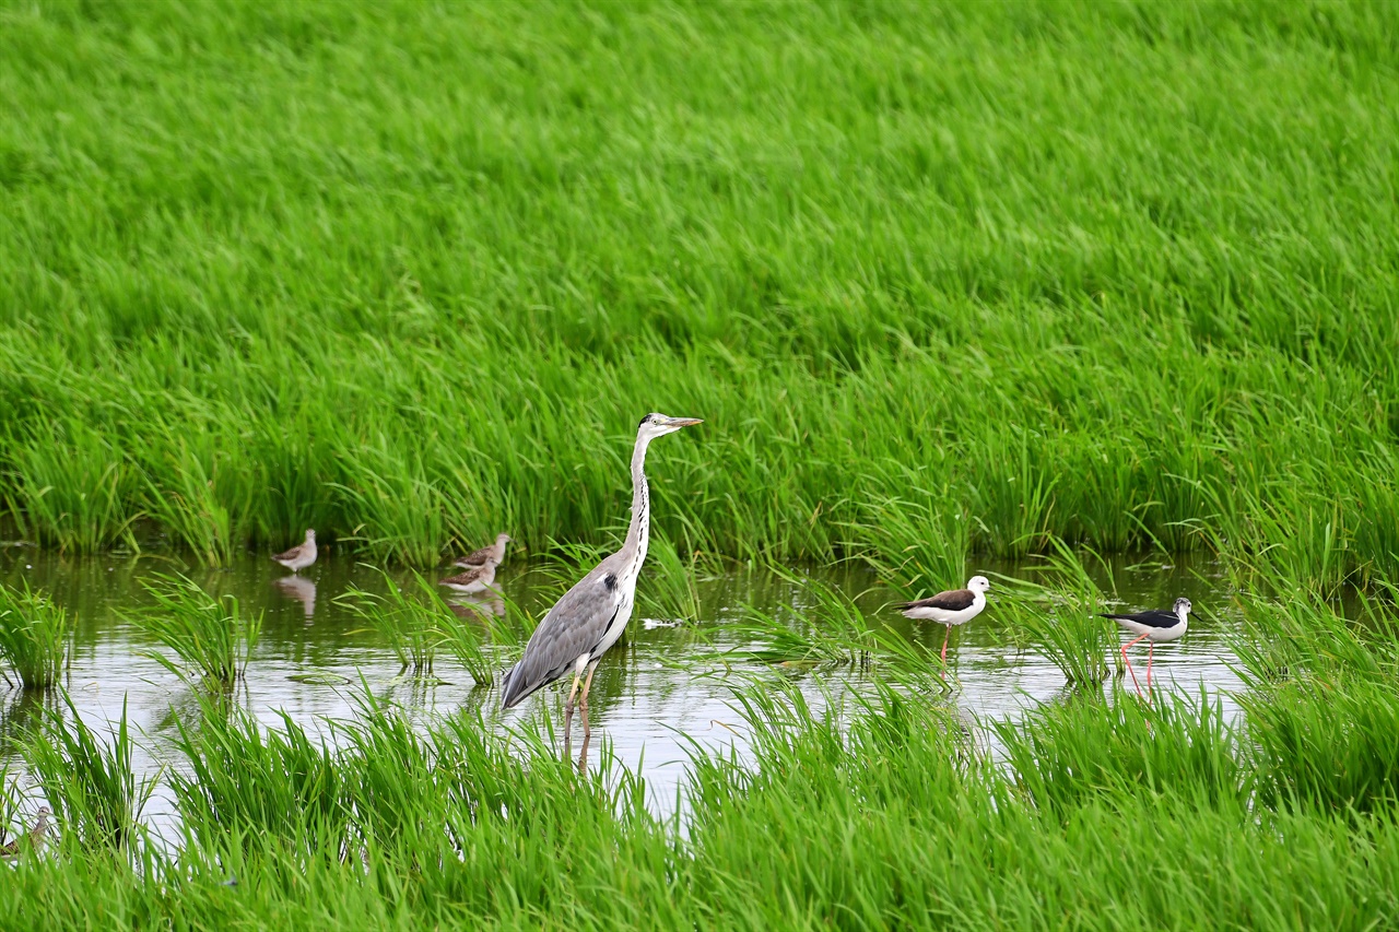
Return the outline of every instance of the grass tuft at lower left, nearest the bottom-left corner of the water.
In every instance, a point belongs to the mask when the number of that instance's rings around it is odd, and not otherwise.
[[[91,851],[127,851],[143,835],[141,810],[157,777],[136,778],[126,700],[109,740],[99,739],[80,718],[67,693],[63,705],[45,709],[41,732],[24,742],[25,763],[64,835]]]

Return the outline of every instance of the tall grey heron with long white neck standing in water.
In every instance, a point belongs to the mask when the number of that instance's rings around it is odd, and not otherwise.
[[[548,610],[534,628],[525,656],[505,676],[501,705],[511,708],[534,690],[553,683],[569,670],[574,689],[564,704],[564,735],[574,721],[574,698],[578,680],[588,670],[579,708],[583,714],[583,737],[592,733],[588,723],[588,690],[593,684],[593,670],[603,654],[621,637],[631,619],[637,596],[637,577],[646,560],[646,540],[651,533],[651,491],[646,488],[646,446],[681,427],[700,424],[694,417],[666,417],[648,414],[637,428],[637,446],[631,452],[631,526],[621,550],[599,563],[579,579],[564,598]]]

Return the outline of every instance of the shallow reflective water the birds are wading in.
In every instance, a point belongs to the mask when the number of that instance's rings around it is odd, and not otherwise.
[[[69,690],[83,719],[105,732],[102,725],[119,718],[123,701],[127,704],[140,736],[139,775],[180,765],[171,753],[169,739],[176,715],[197,708],[190,687],[147,656],[157,645],[126,620],[143,602],[140,579],[176,570],[210,593],[234,595],[245,610],[263,613],[262,637],[238,696],[267,725],[278,723],[280,711],[306,726],[327,716],[353,718],[358,712],[355,696],[364,686],[375,696],[425,712],[446,712],[474,702],[494,709],[498,702],[494,691],[473,690],[470,676],[445,655],[436,661],[435,682],[402,676],[399,661],[378,633],[367,630],[361,619],[336,602],[350,586],[372,591],[383,585],[378,570],[347,556],[326,553],[302,577],[290,577],[266,557],[252,554],[227,570],[190,570],[159,554],[63,558],[31,547],[6,547],[0,551],[0,578],[45,589],[73,614]],[[997,574],[1017,577],[1025,567],[974,560],[970,571],[985,572],[995,584]],[[429,578],[450,572],[455,571],[441,568]],[[908,623],[890,610],[887,605],[900,595],[881,588],[872,574],[842,568],[802,568],[802,574],[851,595],[866,613],[877,614],[930,648],[942,645],[943,628]],[[393,575],[410,579],[407,572]],[[1191,598],[1196,614],[1189,634],[1157,649],[1156,675],[1167,689],[1195,691],[1205,684],[1223,697],[1227,715],[1237,714],[1231,694],[1240,680],[1230,668],[1228,649],[1233,623],[1227,613],[1210,610],[1226,605],[1223,581],[1213,565],[1179,560],[1167,564],[1158,556],[1139,563],[1119,558],[1098,568],[1095,575],[1105,591],[1116,591],[1123,610],[1164,607],[1177,596]],[[644,574],[641,586],[646,582]],[[558,592],[537,568],[520,560],[506,563],[497,585],[533,617]],[[729,630],[744,605],[778,614],[800,610],[804,600],[799,584],[775,574],[739,570],[702,577],[697,591],[697,624],[645,617],[638,609],[625,641],[602,662],[593,682],[589,760],[596,760],[607,744],[628,768],[639,768],[658,812],[674,807],[694,746],[737,747],[743,753],[743,722],[732,705],[737,682],[782,675],[797,684],[813,707],[862,684],[855,670],[817,668],[775,673],[762,662],[741,656],[730,666],[715,662],[715,648],[747,647],[741,635]],[[695,637],[697,628],[708,645]],[[957,687],[947,701],[968,721],[1016,716],[1028,705],[1053,701],[1066,691],[1059,669],[997,617],[995,588],[986,612],[951,634],[949,663]],[[308,673],[316,675],[312,682],[306,682]],[[39,709],[35,697],[21,697],[18,690],[0,696],[0,733],[6,736],[32,725]],[[551,687],[518,709],[504,715],[492,711],[490,721],[505,729],[532,716],[560,716],[561,704],[561,689]],[[978,730],[986,735],[985,729]],[[21,761],[11,750],[4,753],[11,778],[17,775],[22,789],[32,789]],[[159,830],[172,813],[172,799],[162,786],[147,807],[147,820]]]

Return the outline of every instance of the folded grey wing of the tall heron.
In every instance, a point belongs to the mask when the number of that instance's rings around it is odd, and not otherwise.
[[[574,584],[534,628],[525,656],[505,680],[501,705],[509,708],[568,672],[603,640],[620,605],[617,575],[604,560]]]

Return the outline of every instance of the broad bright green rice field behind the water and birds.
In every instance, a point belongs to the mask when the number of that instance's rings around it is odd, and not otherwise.
[[[45,546],[600,543],[662,409],[706,418],[651,463],[683,553],[1399,570],[1389,4],[0,21]]]

